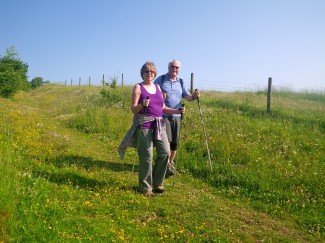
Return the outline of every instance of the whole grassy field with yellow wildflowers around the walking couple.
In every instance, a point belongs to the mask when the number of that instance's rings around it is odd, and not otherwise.
[[[131,87],[50,85],[0,99],[0,242],[325,242],[325,95],[201,91],[177,176],[137,192],[117,147]],[[132,166],[135,164],[135,173]]]

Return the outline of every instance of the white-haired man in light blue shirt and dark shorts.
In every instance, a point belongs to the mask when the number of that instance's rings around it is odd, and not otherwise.
[[[196,90],[191,95],[183,80],[178,77],[178,73],[181,68],[181,63],[178,60],[171,60],[168,63],[168,73],[159,76],[155,80],[155,84],[158,84],[164,94],[165,105],[172,109],[182,109],[182,98],[187,101],[193,101],[199,97],[199,92]],[[177,153],[177,146],[179,144],[179,133],[181,126],[180,114],[163,114],[166,132],[170,143],[170,156],[166,171],[166,177],[175,175],[175,157]]]

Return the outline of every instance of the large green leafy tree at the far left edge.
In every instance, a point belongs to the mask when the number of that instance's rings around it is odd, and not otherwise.
[[[6,49],[0,56],[0,96],[9,98],[18,90],[30,88],[27,72],[28,65],[18,58],[15,47]]]

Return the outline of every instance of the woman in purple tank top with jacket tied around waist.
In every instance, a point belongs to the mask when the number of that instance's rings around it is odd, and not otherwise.
[[[154,63],[146,62],[140,74],[143,82],[134,85],[132,92],[133,125],[119,147],[119,154],[123,158],[126,146],[130,145],[128,143],[131,136],[137,134],[137,141],[133,146],[137,147],[140,159],[139,189],[145,196],[153,197],[153,192],[165,191],[163,182],[170,154],[162,113],[181,114],[185,113],[185,109],[177,110],[165,106],[160,87],[153,83],[157,76]],[[157,157],[153,165],[154,146],[157,149]]]

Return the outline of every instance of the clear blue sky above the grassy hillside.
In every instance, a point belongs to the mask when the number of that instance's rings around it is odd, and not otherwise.
[[[0,53],[15,46],[29,79],[141,81],[182,63],[189,86],[325,90],[324,0],[0,0]]]

